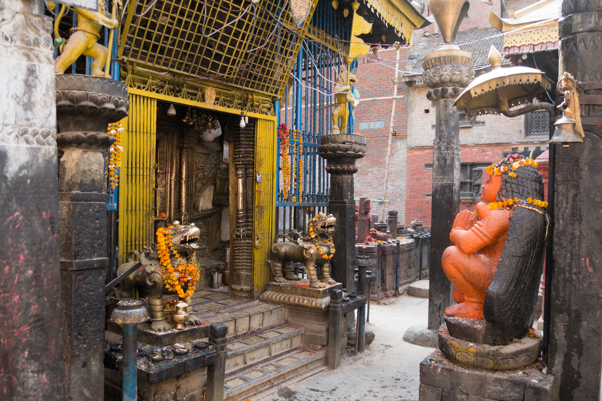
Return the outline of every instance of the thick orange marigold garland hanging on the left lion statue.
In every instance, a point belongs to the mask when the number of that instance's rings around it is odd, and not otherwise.
[[[179,262],[182,262],[182,258],[173,246],[172,234],[165,233],[165,231],[171,231],[172,228],[173,225],[170,225],[167,228],[161,227],[157,230],[157,253],[163,272],[163,284],[165,284],[166,290],[177,293],[179,298],[190,299],[196,289],[194,283],[200,278],[199,264],[196,262],[196,254],[193,254],[188,263],[175,268],[172,266],[170,254],[173,254]],[[179,277],[176,270],[179,272]],[[188,284],[188,288],[184,291],[182,287],[186,284]]]

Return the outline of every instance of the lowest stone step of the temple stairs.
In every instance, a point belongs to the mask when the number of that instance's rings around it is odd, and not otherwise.
[[[236,375],[226,375],[224,401],[253,399],[255,394],[282,385],[290,379],[304,379],[324,369],[326,352],[296,350],[275,360],[246,369]]]

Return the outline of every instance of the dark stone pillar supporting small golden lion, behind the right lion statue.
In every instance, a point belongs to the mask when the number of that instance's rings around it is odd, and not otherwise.
[[[348,291],[355,290],[353,263],[355,263],[355,200],[353,200],[353,174],[357,173],[356,159],[366,154],[366,138],[352,133],[335,133],[320,138],[318,151],[328,161],[330,174],[328,211],[337,218],[337,228],[332,235],[335,256],[331,259],[331,277]]]

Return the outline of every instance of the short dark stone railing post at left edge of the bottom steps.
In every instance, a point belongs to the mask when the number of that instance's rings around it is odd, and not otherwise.
[[[222,401],[224,399],[224,379],[226,376],[226,334],[228,326],[223,323],[213,323],[209,326],[209,344],[213,345],[217,355],[213,365],[207,367],[206,401]]]

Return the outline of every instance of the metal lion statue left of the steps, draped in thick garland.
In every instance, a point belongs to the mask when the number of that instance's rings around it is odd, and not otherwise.
[[[165,229],[163,233],[166,238],[171,237],[170,245],[173,245],[173,249],[176,251],[178,256],[173,252],[170,253],[170,263],[175,269],[176,277],[179,278],[180,273],[177,267],[188,263],[188,259],[194,256],[194,251],[198,248],[197,242],[199,240],[200,230],[193,224],[181,225],[178,221],[174,221],[171,229]],[[158,249],[144,248],[142,252],[131,250],[128,253],[128,262],[123,263],[117,269],[117,275],[122,274],[132,265],[131,256],[135,255],[140,259],[144,268],[140,268],[128,277],[125,278],[120,284],[118,289],[115,290],[117,298],[122,300],[134,299],[132,290],[134,286],[137,287],[140,298],[147,298],[149,313],[151,314],[151,328],[155,331],[169,331],[172,326],[165,321],[163,295],[176,295],[173,291],[166,290],[166,286],[163,280],[163,271],[161,269],[160,258]],[[179,260],[178,260],[179,257]],[[196,287],[196,282],[190,285]],[[187,290],[183,288],[184,291]],[[187,323],[189,325],[200,325],[201,321],[198,317],[192,314],[191,301],[188,299],[187,311],[188,315]]]

